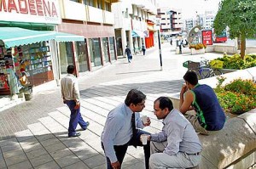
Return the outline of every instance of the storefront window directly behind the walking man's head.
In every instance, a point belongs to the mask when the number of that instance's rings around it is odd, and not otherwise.
[[[72,42],[60,42],[61,73],[67,73],[67,65],[73,65]]]

